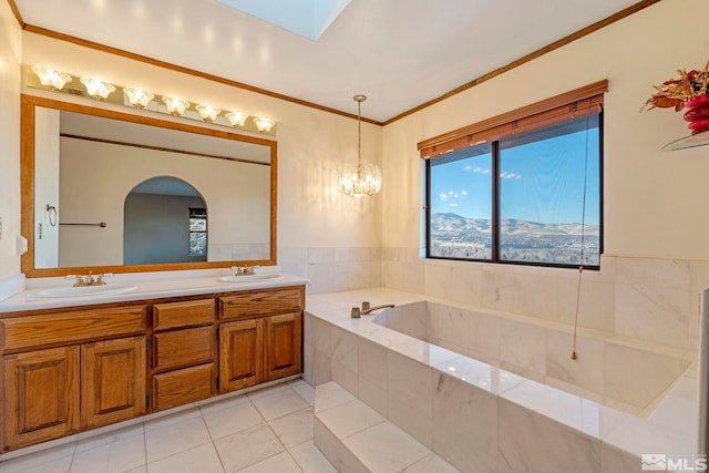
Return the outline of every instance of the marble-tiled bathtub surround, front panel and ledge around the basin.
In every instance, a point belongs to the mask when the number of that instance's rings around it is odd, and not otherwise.
[[[623,473],[640,470],[641,453],[695,453],[692,367],[638,418],[381,327],[373,316],[351,319],[362,300],[424,298],[381,288],[310,296],[306,379],[337,381],[461,471]]]

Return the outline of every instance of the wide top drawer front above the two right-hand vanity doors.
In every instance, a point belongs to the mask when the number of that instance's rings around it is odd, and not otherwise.
[[[219,298],[219,318],[246,319],[299,312],[305,307],[302,287],[249,290]]]

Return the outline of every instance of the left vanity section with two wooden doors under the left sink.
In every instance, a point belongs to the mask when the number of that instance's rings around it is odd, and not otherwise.
[[[0,319],[3,450],[145,413],[145,328],[144,305]]]

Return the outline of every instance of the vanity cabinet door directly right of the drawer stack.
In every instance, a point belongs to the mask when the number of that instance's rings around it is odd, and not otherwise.
[[[219,391],[258,384],[264,379],[263,320],[219,327]]]

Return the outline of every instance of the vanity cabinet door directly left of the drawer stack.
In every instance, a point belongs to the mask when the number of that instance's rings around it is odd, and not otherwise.
[[[145,413],[145,337],[83,345],[81,362],[82,428]]]

